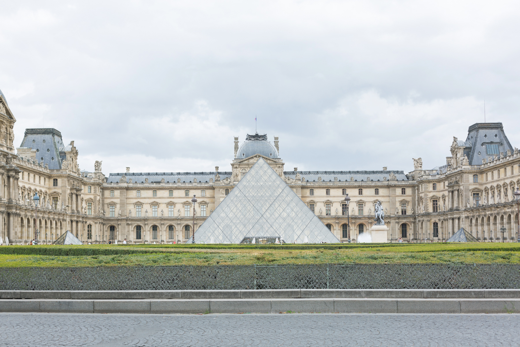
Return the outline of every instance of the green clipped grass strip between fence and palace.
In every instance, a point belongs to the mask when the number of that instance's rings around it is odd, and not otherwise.
[[[519,264],[520,243],[3,246],[0,267]]]

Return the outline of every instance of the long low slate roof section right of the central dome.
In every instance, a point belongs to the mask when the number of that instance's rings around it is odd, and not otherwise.
[[[334,182],[334,177],[337,177],[338,181],[345,182],[350,181],[351,177],[354,177],[354,181],[386,181],[389,179],[390,173],[393,172],[397,178],[397,181],[408,181],[408,177],[403,171],[284,171],[283,174],[287,177],[295,178],[296,174],[299,173],[301,177],[305,177],[305,182],[318,182],[318,177],[321,177],[322,182]]]

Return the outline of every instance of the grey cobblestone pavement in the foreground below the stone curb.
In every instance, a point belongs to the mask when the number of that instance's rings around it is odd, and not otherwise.
[[[518,346],[516,314],[0,314],[0,346]]]

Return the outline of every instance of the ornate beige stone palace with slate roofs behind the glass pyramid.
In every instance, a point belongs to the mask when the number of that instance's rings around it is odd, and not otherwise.
[[[479,241],[513,242],[518,237],[517,204],[520,154],[502,123],[476,123],[465,140],[453,138],[446,164],[403,171],[285,170],[279,139],[235,137],[231,171],[126,172],[80,170],[79,151],[54,128],[25,130],[14,146],[16,122],[0,92],[0,235],[10,244],[34,238],[50,243],[67,230],[86,242],[127,239],[129,243],[187,242],[248,170],[263,158],[310,211],[340,240],[357,240],[374,223],[380,200],[389,227],[388,241],[438,242],[464,227]],[[448,144],[446,144],[448,147]],[[35,193],[40,197],[37,209]],[[343,201],[352,200],[347,209]],[[197,196],[193,207],[191,198]],[[505,233],[501,230],[505,228]],[[286,242],[291,240],[285,239]]]

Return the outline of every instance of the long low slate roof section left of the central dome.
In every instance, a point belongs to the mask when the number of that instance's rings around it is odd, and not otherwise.
[[[193,182],[194,178],[200,183],[210,182],[210,178],[215,181],[216,172],[129,172],[129,173],[111,173],[107,177],[107,183],[119,182],[121,176],[126,176],[126,182],[132,178],[132,183],[144,183],[145,178],[148,178],[148,183],[159,183],[164,178],[165,183],[177,183],[180,178],[180,183]],[[231,177],[231,172],[218,172],[220,179]]]

